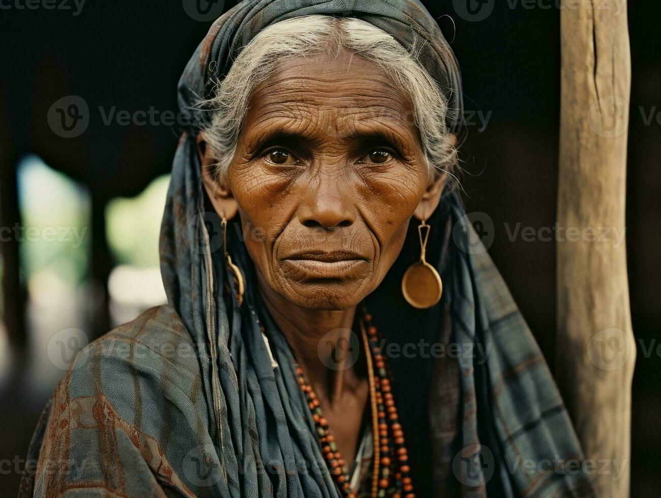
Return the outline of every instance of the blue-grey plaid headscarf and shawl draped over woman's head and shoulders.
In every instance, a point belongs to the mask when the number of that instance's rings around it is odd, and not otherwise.
[[[256,292],[237,220],[228,227],[227,250],[247,286],[241,306],[234,298],[195,144],[208,124],[196,103],[241,47],[268,24],[309,14],[360,17],[405,48],[421,48],[418,62],[448,99],[447,122],[459,126],[455,58],[417,1],[250,0],[218,19],[178,89],[180,107],[194,109],[195,119],[176,151],[161,229],[168,304],[77,355],[36,429],[28,461],[38,463],[23,477],[21,496],[340,496],[292,352]],[[387,343],[422,341],[446,352],[391,358],[416,493],[593,496],[588,477],[563,467],[582,460],[574,430],[455,193],[444,194],[429,223],[428,261],[444,282],[440,304],[414,310],[399,290],[419,256],[414,224],[393,269],[364,303]]]

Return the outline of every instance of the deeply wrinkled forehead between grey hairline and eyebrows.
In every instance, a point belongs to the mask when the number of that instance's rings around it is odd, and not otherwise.
[[[383,128],[392,140],[418,142],[406,93],[377,63],[350,52],[274,65],[251,95],[244,126],[299,131],[311,140],[315,132],[349,137]]]

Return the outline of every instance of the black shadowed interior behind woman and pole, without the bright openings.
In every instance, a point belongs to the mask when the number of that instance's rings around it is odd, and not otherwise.
[[[225,1],[225,9],[234,3]],[[492,218],[490,254],[553,368],[555,244],[520,237],[510,241],[505,227],[520,222],[538,229],[555,221],[559,9],[544,0],[530,9],[522,2],[497,2],[486,19],[468,21],[449,0],[426,4],[447,38],[454,38],[463,72],[469,119],[461,153],[467,211]],[[650,355],[641,351],[641,345],[656,345],[661,328],[661,124],[656,118],[648,124],[644,117],[661,112],[660,17],[660,3],[629,5],[633,83],[627,253],[638,345],[631,462],[635,497],[656,495],[661,487],[661,358],[656,350]],[[59,9],[0,11],[0,226],[21,221],[16,171],[27,153],[87,187],[89,280],[96,285],[87,317],[91,339],[110,327],[104,289],[116,262],[104,237],[106,203],[116,196],[136,196],[152,179],[168,173],[177,136],[169,126],[106,126],[92,113],[84,134],[60,138],[48,127],[48,109],[61,97],[79,95],[91,109],[176,110],[176,82],[209,26],[186,15],[180,1],[89,2],[75,16]],[[44,382],[39,390],[24,382],[34,368],[30,348],[36,347],[26,319],[24,262],[19,241],[3,240],[2,246],[2,318],[11,348],[0,356],[10,366],[0,382],[0,460],[7,462],[25,455],[58,379]],[[10,495],[20,480],[13,469],[0,468],[0,490]]]

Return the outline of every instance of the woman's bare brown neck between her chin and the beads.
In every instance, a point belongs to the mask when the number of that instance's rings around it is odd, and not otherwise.
[[[354,365],[358,354],[352,332],[356,306],[347,310],[301,308],[259,285],[266,309],[282,331],[315,393],[331,405],[345,390],[354,391],[364,380]]]

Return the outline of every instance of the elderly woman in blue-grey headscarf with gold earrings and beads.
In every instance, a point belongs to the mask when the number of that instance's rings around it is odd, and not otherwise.
[[[459,70],[420,3],[243,1],[179,101],[168,304],[77,355],[22,495],[594,495],[452,190]]]

